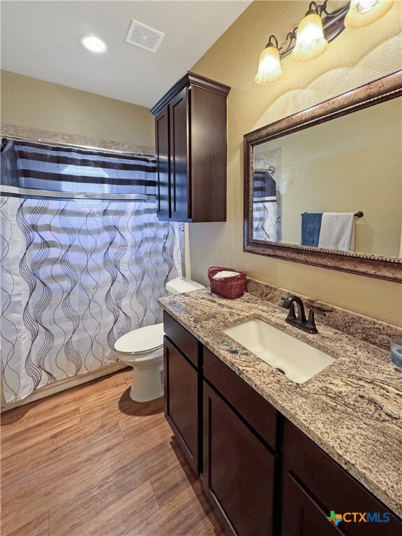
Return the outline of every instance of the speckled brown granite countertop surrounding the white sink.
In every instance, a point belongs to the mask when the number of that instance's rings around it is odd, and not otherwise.
[[[319,333],[285,323],[288,311],[245,294],[209,289],[164,297],[161,306],[311,440],[402,517],[402,370],[389,352],[317,319]],[[260,318],[335,358],[303,384],[292,382],[223,333]]]

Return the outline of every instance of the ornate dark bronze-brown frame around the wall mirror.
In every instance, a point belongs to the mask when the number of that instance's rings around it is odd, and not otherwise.
[[[253,239],[253,147],[402,96],[402,70],[244,136],[244,251],[402,283],[402,259]]]

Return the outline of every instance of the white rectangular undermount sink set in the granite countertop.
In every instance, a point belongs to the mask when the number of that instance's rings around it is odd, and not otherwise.
[[[306,382],[335,361],[325,352],[258,318],[228,327],[223,333],[296,383]]]

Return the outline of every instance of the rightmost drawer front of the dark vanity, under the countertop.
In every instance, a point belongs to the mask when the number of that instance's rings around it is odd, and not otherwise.
[[[323,516],[329,516],[332,510],[336,514],[378,512],[382,519],[382,514],[389,512],[382,502],[288,420],[285,420],[283,445],[285,479],[290,477],[297,483],[319,505]],[[338,533],[350,536],[401,535],[402,521],[391,513],[389,518],[388,523],[341,521]],[[348,519],[352,520],[352,516]]]

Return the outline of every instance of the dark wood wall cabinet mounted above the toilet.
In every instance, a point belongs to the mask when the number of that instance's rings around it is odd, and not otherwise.
[[[230,87],[194,73],[153,108],[158,218],[226,220],[226,99]]]

